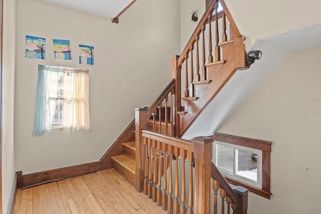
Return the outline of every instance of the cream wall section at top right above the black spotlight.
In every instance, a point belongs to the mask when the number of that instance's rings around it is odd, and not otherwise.
[[[246,36],[247,48],[257,39],[321,23],[319,0],[224,0],[224,2],[240,33]]]

